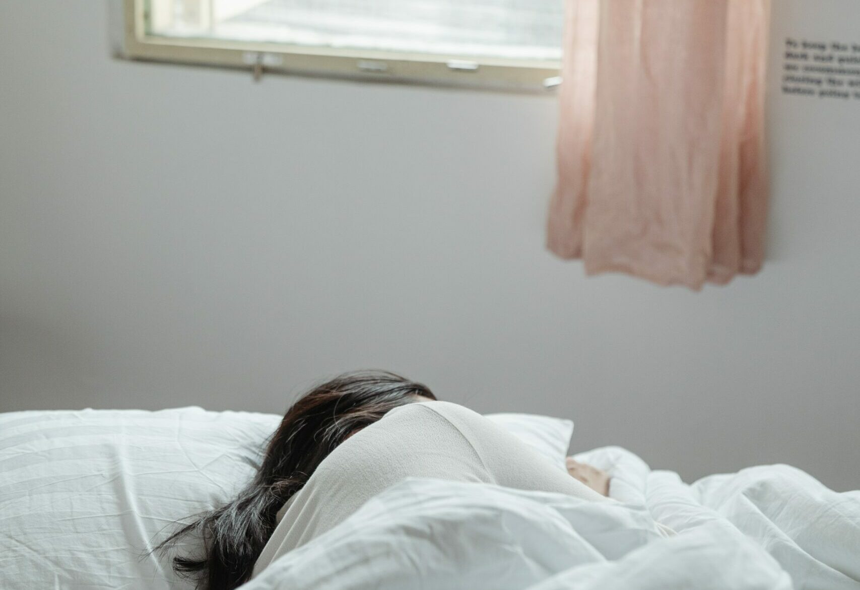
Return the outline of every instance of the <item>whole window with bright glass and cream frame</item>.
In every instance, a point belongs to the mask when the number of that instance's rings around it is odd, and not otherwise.
[[[539,89],[564,0],[126,0],[130,58]]]

